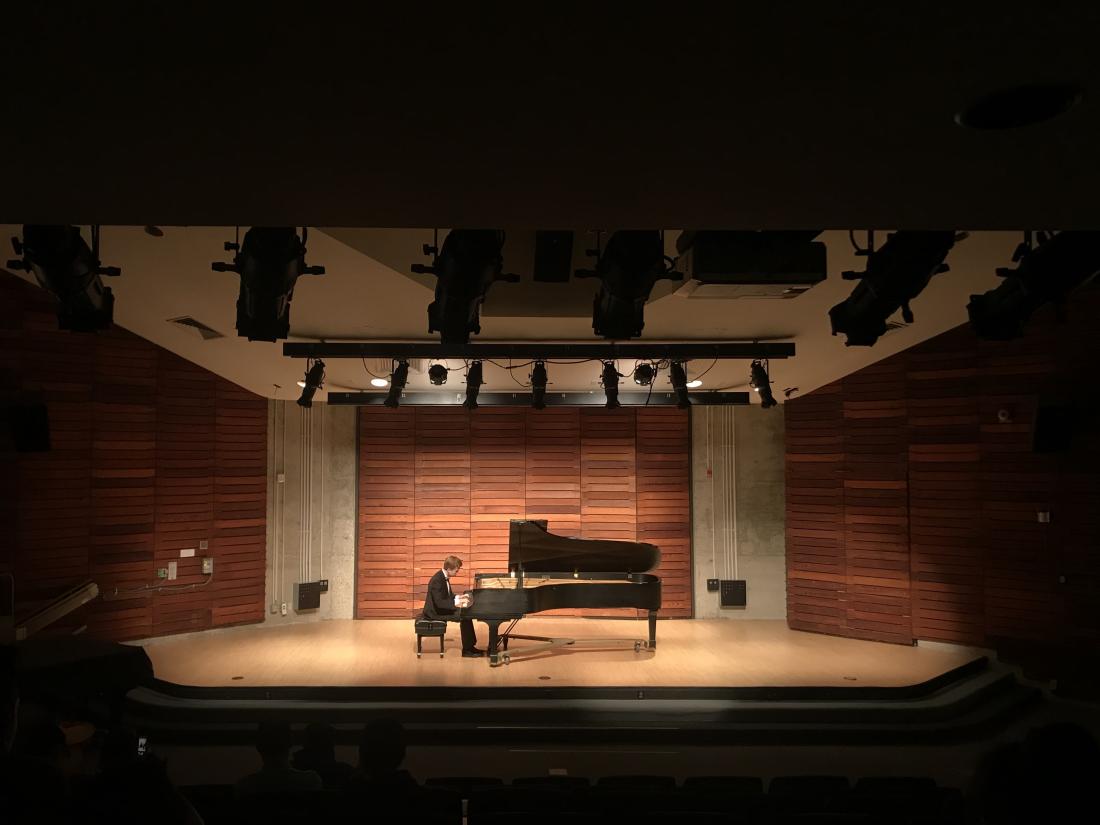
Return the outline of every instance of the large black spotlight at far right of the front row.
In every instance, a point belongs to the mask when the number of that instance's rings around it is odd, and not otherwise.
[[[971,295],[967,305],[970,326],[979,338],[1008,341],[1024,332],[1032,312],[1047,301],[1060,302],[1075,288],[1100,272],[1100,232],[1032,234],[1016,248],[1015,270],[997,271],[1004,280],[985,295]]]

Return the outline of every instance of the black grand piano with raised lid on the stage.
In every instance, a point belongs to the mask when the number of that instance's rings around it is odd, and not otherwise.
[[[525,646],[524,653],[575,645],[575,639],[513,632],[524,616],[562,607],[649,610],[649,639],[635,640],[634,648],[636,651],[641,648],[654,650],[661,580],[647,571],[656,568],[660,560],[661,551],[653,544],[554,536],[547,531],[544,519],[513,519],[508,529],[508,572],[477,573],[475,586],[469,591],[470,606],[460,608],[454,618],[476,619],[488,626],[491,666],[510,661],[509,639],[542,642]],[[504,623],[508,625],[501,632]]]

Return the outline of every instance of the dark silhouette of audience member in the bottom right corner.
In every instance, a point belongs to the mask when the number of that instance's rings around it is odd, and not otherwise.
[[[988,825],[1075,822],[1100,783],[1100,745],[1066,723],[1033,729],[988,754],[975,777],[975,802]]]

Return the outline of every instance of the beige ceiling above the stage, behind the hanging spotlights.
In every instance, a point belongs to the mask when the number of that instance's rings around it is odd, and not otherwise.
[[[250,342],[237,337],[235,301],[239,277],[210,270],[212,261],[226,260],[222,243],[231,228],[163,228],[154,238],[141,227],[105,227],[101,256],[122,267],[110,279],[116,295],[116,322],[165,349],[222,375],[257,394],[296,398],[296,381],[304,363],[284,358],[282,343]],[[15,226],[0,226],[3,234],[19,234]],[[337,234],[346,235],[338,232]],[[309,234],[308,263],[322,264],[322,276],[302,276],[290,306],[290,340],[403,340],[427,341],[427,306],[432,292],[397,271],[397,261],[419,258],[420,244],[430,230],[371,230],[355,233],[355,248],[336,240],[323,229]],[[829,334],[828,309],[853,289],[840,278],[844,270],[862,270],[865,261],[853,254],[846,232],[826,232],[828,277],[804,295],[776,299],[688,299],[674,294],[651,300],[646,307],[646,341],[683,340],[784,340],[795,343],[793,359],[771,363],[777,391],[798,387],[805,394],[873,361],[966,320],[966,302],[972,292],[996,285],[993,270],[1005,265],[1020,235],[1012,232],[976,232],[956,244],[948,257],[952,271],[936,276],[913,301],[916,321],[888,333],[873,348],[847,348],[843,337]],[[881,242],[880,238],[880,242]],[[386,266],[367,251],[377,246]],[[402,250],[406,250],[404,257]],[[365,250],[365,251],[364,251]],[[507,263],[507,262],[506,262]],[[20,273],[21,276],[28,277]],[[596,285],[591,283],[593,293]],[[506,290],[497,284],[493,290]],[[490,293],[491,297],[493,292]],[[224,337],[202,340],[194,330],[168,319],[190,316]],[[591,316],[520,317],[483,316],[482,333],[473,341],[593,341]],[[450,362],[461,367],[461,362]],[[367,364],[366,366],[372,366]],[[503,366],[503,363],[502,363]],[[620,363],[629,373],[632,363]],[[747,389],[748,362],[693,362],[689,377],[703,376],[704,389]],[[551,391],[601,392],[598,365],[551,365]],[[510,371],[486,365],[486,391],[520,391],[529,370]],[[513,377],[515,376],[515,377]],[[327,362],[326,388],[371,389],[370,374],[359,360]],[[662,375],[658,388],[668,388]],[[427,375],[413,372],[409,389],[431,388]],[[626,387],[624,387],[626,388]],[[462,392],[461,372],[437,392]],[[782,397],[779,392],[777,396]],[[323,399],[323,393],[318,399]]]

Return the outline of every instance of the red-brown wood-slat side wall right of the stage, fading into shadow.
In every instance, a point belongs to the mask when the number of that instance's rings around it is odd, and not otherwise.
[[[1019,341],[959,327],[787,405],[791,627],[1100,649],[1098,317],[1079,292]],[[1035,452],[1057,402],[1072,447]]]

